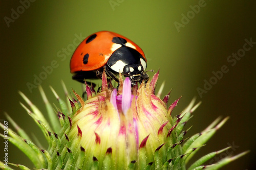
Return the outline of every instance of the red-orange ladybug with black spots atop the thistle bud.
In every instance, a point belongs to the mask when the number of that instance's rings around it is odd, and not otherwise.
[[[100,31],[88,36],[76,48],[70,60],[72,78],[84,83],[106,74],[119,82],[121,72],[132,84],[148,80],[145,73],[146,57],[141,48],[130,39],[110,31]]]

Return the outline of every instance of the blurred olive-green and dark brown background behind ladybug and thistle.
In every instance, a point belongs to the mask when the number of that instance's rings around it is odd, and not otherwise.
[[[193,12],[196,5],[202,7]],[[235,145],[230,150],[232,155],[251,152],[222,169],[255,169],[255,7],[255,1],[237,0],[1,1],[1,121],[6,120],[7,112],[31,136],[42,136],[20,106],[19,102],[25,102],[17,91],[46,111],[34,81],[43,74],[44,67],[53,64],[55,68],[39,82],[49,100],[57,104],[50,85],[64,96],[61,80],[69,90],[81,94],[81,85],[71,79],[69,69],[74,46],[94,32],[109,30],[136,42],[146,54],[148,69],[160,68],[159,86],[165,81],[164,94],[173,89],[170,103],[182,95],[174,114],[179,114],[194,97],[202,101],[186,126],[193,125],[187,136],[202,131],[219,116],[230,116],[197,158],[230,143]],[[253,46],[236,59],[236,64],[234,58],[228,62],[232,53],[243,52],[245,39],[251,39]],[[205,81],[215,79],[212,71],[220,71],[224,65],[229,71],[200,95],[198,89],[204,89]],[[34,86],[28,88],[28,84]],[[3,142],[0,147],[3,158]],[[9,162],[33,167],[10,142],[8,149]]]

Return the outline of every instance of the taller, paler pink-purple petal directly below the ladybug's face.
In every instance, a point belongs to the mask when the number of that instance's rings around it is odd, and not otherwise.
[[[127,110],[131,107],[132,98],[132,85],[129,78],[125,78],[123,82],[123,92],[122,92],[122,111],[125,114]]]

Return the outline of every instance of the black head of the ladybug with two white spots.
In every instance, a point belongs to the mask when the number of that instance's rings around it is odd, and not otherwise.
[[[123,75],[130,78],[132,85],[135,85],[136,82],[142,83],[143,80],[148,80],[148,75],[144,72],[141,64],[125,65]]]

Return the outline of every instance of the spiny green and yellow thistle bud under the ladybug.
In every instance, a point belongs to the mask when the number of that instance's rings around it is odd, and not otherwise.
[[[73,91],[76,100],[66,94],[66,101],[59,98],[51,87],[60,108],[53,108],[42,90],[50,123],[45,115],[22,93],[29,106],[21,105],[35,120],[44,134],[48,149],[37,147],[29,135],[7,115],[17,134],[9,130],[9,141],[26,154],[36,169],[218,169],[237,159],[226,157],[212,165],[203,165],[217,154],[212,152],[190,166],[188,161],[204,146],[212,135],[226,122],[216,119],[200,133],[184,138],[190,129],[184,129],[191,114],[200,105],[195,99],[184,111],[172,116],[171,113],[180,99],[167,107],[169,93],[160,100],[161,91],[155,95],[158,72],[151,82],[131,87],[129,79],[120,79],[119,89],[113,88],[106,75],[102,76],[101,91],[86,85],[87,100]],[[162,88],[160,88],[162,89]],[[4,129],[4,125],[1,124]],[[5,136],[1,134],[3,138]],[[22,163],[22,162],[18,162]],[[21,164],[0,162],[3,169],[29,169]]]

